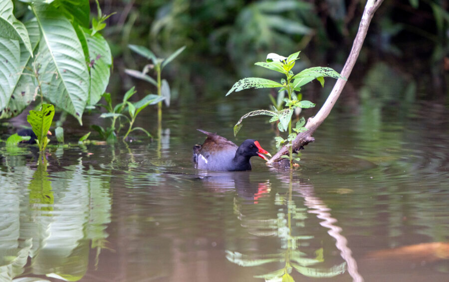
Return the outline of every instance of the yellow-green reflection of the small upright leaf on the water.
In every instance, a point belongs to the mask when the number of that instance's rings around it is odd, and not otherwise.
[[[39,164],[33,174],[33,179],[28,185],[29,203],[41,205],[40,210],[52,211],[54,196],[51,191],[51,181],[48,179],[47,168]]]

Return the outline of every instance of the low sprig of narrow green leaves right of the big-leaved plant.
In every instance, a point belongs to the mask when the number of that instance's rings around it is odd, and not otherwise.
[[[125,95],[123,96],[123,100],[121,103],[112,106],[112,99],[110,93],[104,93],[103,97],[106,100],[106,104],[98,104],[98,106],[102,106],[106,108],[108,111],[107,113],[103,113],[100,115],[101,118],[110,118],[111,119],[111,125],[107,127],[106,129],[103,128],[100,125],[92,125],[92,128],[95,129],[108,143],[115,143],[117,142],[117,136],[120,132],[120,130],[125,127],[125,124],[122,122],[125,120],[128,123],[128,130],[123,135],[122,139],[125,140],[126,137],[128,137],[129,133],[135,130],[143,131],[147,134],[147,136],[151,136],[151,134],[143,129],[142,127],[134,127],[133,124],[136,121],[137,115],[145,109],[149,105],[154,105],[162,100],[164,100],[164,97],[158,96],[155,94],[148,94],[143,99],[141,99],[138,102],[131,103],[128,101],[129,98],[131,98],[136,93],[136,90],[134,87],[129,89]],[[129,114],[129,117],[126,115],[126,113]]]

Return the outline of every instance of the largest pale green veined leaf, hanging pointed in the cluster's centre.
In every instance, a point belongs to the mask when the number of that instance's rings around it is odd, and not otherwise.
[[[76,32],[52,5],[31,6],[42,32],[36,61],[46,98],[80,124],[89,95],[89,73]]]

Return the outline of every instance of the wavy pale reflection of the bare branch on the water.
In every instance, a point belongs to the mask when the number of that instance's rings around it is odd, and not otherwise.
[[[297,192],[301,193],[304,198],[304,205],[311,209],[308,212],[311,214],[316,214],[317,218],[324,220],[320,222],[320,225],[328,228],[329,231],[327,233],[337,241],[335,246],[338,250],[340,250],[341,257],[346,261],[348,273],[352,277],[353,281],[362,282],[363,278],[357,270],[357,262],[352,257],[351,249],[347,246],[348,240],[340,234],[342,229],[335,225],[337,220],[331,217],[331,214],[329,213],[331,209],[329,209],[326,204],[321,201],[321,199],[314,196],[312,186],[302,185],[299,187]]]

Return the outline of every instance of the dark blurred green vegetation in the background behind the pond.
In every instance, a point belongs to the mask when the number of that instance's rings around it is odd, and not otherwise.
[[[301,50],[295,67],[319,65],[341,71],[365,2],[100,0],[104,14],[117,12],[103,32],[114,57],[109,91],[124,93],[137,83],[137,89],[155,93],[151,85],[125,74],[125,68],[143,69],[148,63],[133,54],[128,44],[147,46],[159,57],[187,45],[163,74],[170,81],[175,105],[223,98],[230,86],[245,76],[269,77],[271,73],[253,65],[264,61],[269,52],[287,55]],[[20,18],[19,2],[15,4]],[[375,93],[373,98],[379,100],[391,100],[393,95],[447,103],[448,6],[448,0],[384,1],[343,99],[363,99],[364,92],[358,90],[368,81],[375,88],[370,95]],[[94,1],[91,9],[96,14]],[[320,88],[317,84],[310,87]],[[315,92],[310,91],[311,95]]]

